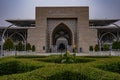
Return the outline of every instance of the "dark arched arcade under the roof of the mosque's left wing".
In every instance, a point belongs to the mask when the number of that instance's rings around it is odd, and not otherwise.
[[[4,29],[5,28],[0,29],[0,36],[2,35]],[[5,32],[3,41],[5,41],[6,38],[11,38],[12,41],[14,42],[14,45],[17,45],[19,42],[22,42],[24,45],[26,45],[26,43],[27,43],[27,29],[10,28]],[[0,38],[0,40],[1,40],[1,38]]]

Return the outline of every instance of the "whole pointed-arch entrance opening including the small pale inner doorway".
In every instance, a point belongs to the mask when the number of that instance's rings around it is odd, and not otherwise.
[[[72,51],[72,32],[63,23],[59,24],[52,33],[52,52]]]

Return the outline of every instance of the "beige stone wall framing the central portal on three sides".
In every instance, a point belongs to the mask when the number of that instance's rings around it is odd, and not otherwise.
[[[89,29],[88,7],[37,7],[36,28],[28,30],[28,42],[36,45],[37,52],[45,52],[46,31],[48,18],[76,18],[77,19],[77,45],[83,52],[88,52],[89,46],[97,43],[97,31]]]

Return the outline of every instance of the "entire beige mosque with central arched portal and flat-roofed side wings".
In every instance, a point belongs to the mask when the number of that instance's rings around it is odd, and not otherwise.
[[[36,7],[35,20],[10,19],[5,33],[14,43],[35,45],[36,52],[89,52],[90,46],[109,46],[120,40],[120,19],[89,19],[89,7]],[[0,27],[3,33],[5,27]]]

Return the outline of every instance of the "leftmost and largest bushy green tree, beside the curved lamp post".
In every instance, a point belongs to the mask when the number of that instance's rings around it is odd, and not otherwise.
[[[11,50],[11,49],[14,49],[14,43],[13,43],[13,41],[12,41],[12,39],[10,39],[10,38],[7,38],[6,40],[5,40],[5,43],[3,44],[3,49],[4,50]]]

